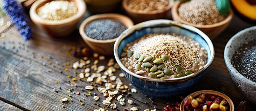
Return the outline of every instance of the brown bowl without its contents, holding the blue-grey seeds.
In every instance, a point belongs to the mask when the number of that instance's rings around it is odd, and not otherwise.
[[[82,36],[84,42],[95,52],[98,52],[102,55],[113,55],[113,47],[114,43],[117,38],[113,38],[110,40],[96,40],[88,37],[85,34],[84,28],[85,26],[97,19],[115,19],[123,23],[127,28],[133,25],[133,22],[130,18],[126,17],[125,15],[115,14],[115,13],[106,13],[106,14],[97,14],[90,16],[89,18],[85,19],[83,23],[79,27],[79,33]]]

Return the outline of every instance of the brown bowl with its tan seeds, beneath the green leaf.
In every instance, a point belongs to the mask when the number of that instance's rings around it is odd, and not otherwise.
[[[228,27],[233,11],[230,9],[228,13],[221,15],[215,0],[175,1],[172,17],[175,21],[200,29],[213,40]]]

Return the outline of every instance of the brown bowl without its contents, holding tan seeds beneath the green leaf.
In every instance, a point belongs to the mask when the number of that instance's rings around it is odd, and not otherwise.
[[[183,24],[191,25],[199,30],[203,31],[211,40],[214,40],[214,38],[218,37],[222,31],[224,31],[229,23],[231,22],[231,19],[233,18],[233,11],[231,10],[228,17],[224,19],[223,21],[213,24],[213,25],[195,25],[188,23],[187,21],[180,18],[180,15],[178,13],[178,8],[180,7],[180,4],[183,3],[181,1],[175,1],[172,8],[172,17],[173,20],[179,21]]]

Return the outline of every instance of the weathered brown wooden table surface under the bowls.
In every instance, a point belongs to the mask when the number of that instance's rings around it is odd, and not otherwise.
[[[246,99],[235,88],[228,74],[223,52],[226,43],[235,33],[250,26],[252,24],[243,21],[236,15],[234,16],[228,28],[213,41],[215,57],[207,73],[193,89],[186,93],[181,93],[173,98],[152,98],[152,104],[150,97],[138,91],[131,94],[124,93],[125,105],[120,105],[116,99],[112,99],[111,103],[115,102],[119,111],[123,111],[124,108],[130,111],[131,107],[138,107],[139,111],[154,108],[157,111],[163,111],[167,103],[181,102],[180,96],[186,97],[195,91],[208,89],[225,93],[233,100],[236,108],[241,101]],[[86,47],[79,32],[76,30],[69,37],[55,38],[48,36],[35,25],[33,28],[34,39],[28,42],[23,41],[23,37],[16,31],[15,25],[5,31],[4,37],[0,37],[0,110],[5,109],[5,106],[13,111],[93,111],[107,107],[102,104],[105,97],[97,91],[97,87],[104,87],[104,84],[97,84],[95,89],[91,91],[82,91],[81,88],[90,86],[89,82],[86,80],[68,81],[70,80],[68,75],[78,78],[74,72],[79,74],[81,71],[81,69],[72,69],[67,66],[68,63],[72,64],[81,59],[71,55],[74,48]],[[1,27],[1,31],[3,30]],[[104,61],[99,61],[99,65],[106,65],[110,58],[113,56],[106,56]],[[92,62],[95,60],[93,57],[90,59]],[[62,73],[59,70],[62,70]],[[114,74],[119,77],[119,73],[120,70],[118,69]],[[125,85],[129,86],[129,81],[126,78],[119,78]],[[54,88],[58,90],[58,93],[53,91]],[[74,89],[72,92],[80,92],[81,94],[72,94],[72,97],[69,98],[73,102],[62,103],[61,98],[68,97],[66,92],[70,88]],[[129,88],[131,89],[133,86],[129,86]],[[95,93],[100,99],[94,101],[93,96],[83,95],[83,93],[88,94],[89,92]],[[120,94],[118,93],[118,95]],[[128,99],[136,104],[128,104]],[[80,105],[82,102],[85,105]],[[256,108],[252,103],[249,103],[247,110],[256,111]]]

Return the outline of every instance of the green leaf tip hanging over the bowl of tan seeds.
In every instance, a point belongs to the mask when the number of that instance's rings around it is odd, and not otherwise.
[[[230,10],[230,1],[229,0],[215,0],[215,4],[221,13],[221,15],[225,15]]]

